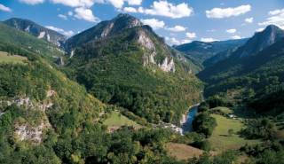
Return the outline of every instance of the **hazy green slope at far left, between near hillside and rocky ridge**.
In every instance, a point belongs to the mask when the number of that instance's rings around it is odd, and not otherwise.
[[[9,27],[4,23],[0,23],[0,46],[4,49],[3,51],[12,51],[16,47],[17,49],[30,51],[51,60],[64,56],[64,51],[61,51],[54,44]],[[12,47],[11,50],[7,50],[10,49],[9,47]]]

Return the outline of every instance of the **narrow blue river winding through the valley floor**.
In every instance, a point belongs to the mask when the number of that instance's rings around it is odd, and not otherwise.
[[[185,121],[182,122],[182,133],[190,132],[193,130],[193,120],[197,114],[198,105],[193,105],[189,108],[188,113],[186,114]]]

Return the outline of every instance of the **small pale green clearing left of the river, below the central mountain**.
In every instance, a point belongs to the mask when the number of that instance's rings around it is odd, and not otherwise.
[[[133,126],[135,128],[141,127],[138,123],[136,123],[135,121],[131,121],[129,118],[125,117],[117,111],[111,113],[109,118],[107,118],[106,121],[104,121],[103,123],[108,128],[120,128],[124,125]]]

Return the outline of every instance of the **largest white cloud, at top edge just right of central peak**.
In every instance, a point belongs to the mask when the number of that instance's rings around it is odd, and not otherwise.
[[[140,12],[148,15],[158,15],[169,17],[172,19],[179,19],[184,17],[189,17],[193,14],[193,8],[188,4],[171,4],[166,0],[163,1],[154,1],[150,8],[138,7],[138,9],[126,9],[124,12]]]

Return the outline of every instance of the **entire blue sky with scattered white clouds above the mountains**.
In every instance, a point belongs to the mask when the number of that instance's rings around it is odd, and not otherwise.
[[[75,35],[127,12],[169,44],[249,37],[284,28],[284,0],[0,0],[0,20],[19,17]]]

